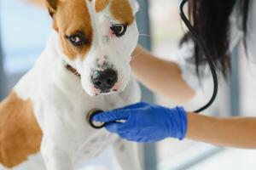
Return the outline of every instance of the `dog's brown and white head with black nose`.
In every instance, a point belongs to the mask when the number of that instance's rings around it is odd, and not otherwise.
[[[136,0],[47,0],[63,60],[81,76],[87,94],[123,90],[137,45]]]

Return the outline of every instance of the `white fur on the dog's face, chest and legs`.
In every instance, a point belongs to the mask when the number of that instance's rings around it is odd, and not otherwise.
[[[130,3],[135,13],[135,0],[130,0]],[[109,111],[139,101],[140,89],[134,77],[130,76],[129,65],[131,52],[137,44],[137,25],[134,22],[129,26],[124,37],[106,42],[103,38],[107,37],[102,35],[111,22],[116,21],[108,9],[96,14],[92,4],[88,3],[88,8],[95,33],[86,58],[68,59],[62,52],[58,33],[53,31],[43,54],[15,86],[15,93],[20,99],[32,100],[33,111],[44,136],[41,152],[30,156],[14,170],[73,170],[80,163],[97,156],[109,144],[113,144],[122,169],[140,169],[137,144],[119,139],[105,129],[93,129],[86,122],[86,114],[94,108]],[[96,59],[106,55],[108,62],[122,75],[119,92],[94,96],[90,71],[96,66]],[[79,71],[81,80],[67,71],[63,60]]]

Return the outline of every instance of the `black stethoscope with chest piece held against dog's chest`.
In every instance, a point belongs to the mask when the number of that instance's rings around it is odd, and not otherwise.
[[[209,51],[207,50],[206,46],[204,45],[204,43],[201,41],[201,37],[199,37],[199,35],[197,34],[197,32],[195,31],[195,28],[193,26],[191,26],[188,18],[186,17],[186,15],[183,12],[183,7],[186,3],[188,3],[189,0],[183,0],[180,3],[179,6],[179,14],[181,16],[181,19],[183,20],[185,26],[188,27],[190,34],[192,35],[192,37],[194,38],[195,42],[198,43],[199,47],[201,48],[202,52],[205,54],[205,57],[207,59],[207,63],[210,66],[210,70],[212,72],[212,79],[213,79],[213,94],[212,94],[212,98],[207,102],[206,105],[202,106],[200,109],[194,111],[195,113],[200,113],[201,111],[205,111],[208,107],[210,107],[210,105],[212,105],[213,101],[216,99],[216,96],[218,94],[218,77],[217,77],[217,73],[215,70],[215,66],[213,64],[212,61],[212,57],[209,53]],[[96,129],[105,127],[106,123],[105,122],[95,122],[93,121],[93,117],[96,116],[97,114],[102,113],[103,111],[101,110],[93,110],[90,111],[87,115],[87,121],[90,123],[90,126]],[[109,122],[108,122],[109,123]]]

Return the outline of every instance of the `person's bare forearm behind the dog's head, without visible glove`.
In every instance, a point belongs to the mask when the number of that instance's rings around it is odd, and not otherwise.
[[[181,103],[195,95],[175,63],[156,58],[140,46],[132,55],[132,71],[147,88]]]

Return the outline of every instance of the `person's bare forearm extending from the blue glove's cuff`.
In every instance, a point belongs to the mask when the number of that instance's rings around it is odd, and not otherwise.
[[[188,139],[256,149],[256,118],[215,118],[188,113],[188,119]]]

